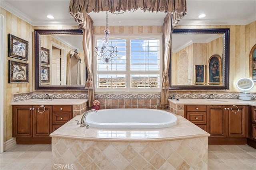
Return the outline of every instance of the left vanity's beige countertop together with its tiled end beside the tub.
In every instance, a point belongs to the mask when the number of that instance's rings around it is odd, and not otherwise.
[[[88,110],[88,99],[29,99],[12,102],[11,105],[72,105],[73,117],[83,114]]]

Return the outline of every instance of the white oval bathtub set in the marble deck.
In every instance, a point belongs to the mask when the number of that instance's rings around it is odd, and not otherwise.
[[[158,109],[102,109],[90,112],[90,127],[107,129],[153,129],[175,125],[176,115]]]

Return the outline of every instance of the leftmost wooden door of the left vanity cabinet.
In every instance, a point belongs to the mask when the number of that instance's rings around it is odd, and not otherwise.
[[[12,106],[12,136],[32,137],[32,106]]]

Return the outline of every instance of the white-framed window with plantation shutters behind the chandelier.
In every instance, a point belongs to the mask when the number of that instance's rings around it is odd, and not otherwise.
[[[94,35],[94,47],[104,39]],[[98,57],[94,48],[95,92],[160,92],[162,35],[111,34],[109,44],[118,51],[112,59]]]

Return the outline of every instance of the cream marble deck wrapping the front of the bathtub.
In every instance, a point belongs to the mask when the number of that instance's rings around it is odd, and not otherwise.
[[[80,127],[75,120],[81,119],[77,115],[62,127],[50,134],[50,137],[79,139],[88,141],[129,141],[129,142],[151,142],[177,139],[188,139],[195,137],[208,137],[209,133],[194,125],[184,117],[176,115],[176,125],[166,128],[155,129],[99,129],[94,127]],[[189,130],[188,130],[189,129]]]

